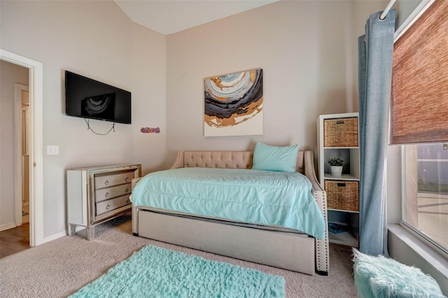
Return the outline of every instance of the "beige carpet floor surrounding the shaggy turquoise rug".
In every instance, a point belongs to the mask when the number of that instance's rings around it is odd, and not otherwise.
[[[309,276],[132,236],[130,216],[96,227],[95,239],[65,236],[0,260],[0,297],[67,297],[152,244],[285,277],[287,297],[356,297],[351,248],[330,244],[330,273]]]

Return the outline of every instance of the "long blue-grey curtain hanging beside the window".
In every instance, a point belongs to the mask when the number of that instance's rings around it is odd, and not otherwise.
[[[391,99],[395,10],[370,15],[359,50],[359,250],[387,255],[386,153]]]

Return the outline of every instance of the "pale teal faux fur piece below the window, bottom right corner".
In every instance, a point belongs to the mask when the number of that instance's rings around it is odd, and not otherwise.
[[[353,262],[358,297],[445,297],[434,278],[416,267],[382,255],[365,255],[354,248]]]

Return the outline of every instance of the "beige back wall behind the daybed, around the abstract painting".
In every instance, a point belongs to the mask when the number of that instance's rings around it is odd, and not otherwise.
[[[167,150],[316,147],[316,118],[356,111],[351,2],[279,1],[167,36]],[[264,134],[204,137],[204,78],[263,69]]]

